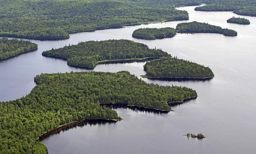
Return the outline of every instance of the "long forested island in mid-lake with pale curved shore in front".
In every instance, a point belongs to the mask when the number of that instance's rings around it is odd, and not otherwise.
[[[161,49],[150,49],[142,43],[131,40],[88,41],[78,45],[44,51],[44,56],[62,58],[70,66],[94,68],[108,61],[143,60],[149,57],[170,56]]]

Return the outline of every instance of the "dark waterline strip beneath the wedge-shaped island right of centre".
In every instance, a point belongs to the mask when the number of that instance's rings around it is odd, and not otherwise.
[[[204,77],[204,78],[193,78],[193,77],[146,77],[145,75],[141,75],[141,77],[149,80],[164,80],[164,81],[186,81],[186,80],[198,80],[198,81],[206,81],[211,80],[213,77]]]

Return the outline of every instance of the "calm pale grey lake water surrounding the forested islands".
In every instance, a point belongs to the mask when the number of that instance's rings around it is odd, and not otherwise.
[[[222,34],[177,34],[164,40],[132,38],[143,27],[176,27],[175,21],[122,29],[71,34],[68,40],[39,41],[38,50],[0,61],[0,101],[15,100],[36,86],[33,78],[41,73],[87,71],[67,66],[66,61],[43,57],[41,53],[88,40],[128,39],[162,48],[178,58],[209,66],[215,74],[208,81],[158,81],[149,83],[193,88],[198,98],[178,106],[174,112],[156,114],[117,108],[124,120],[117,123],[84,125],[51,135],[42,142],[49,154],[241,154],[255,153],[256,141],[256,17],[232,12],[194,11],[195,6],[178,8],[189,12],[189,22],[205,22],[234,29],[237,37]],[[245,17],[250,25],[227,23],[230,17]],[[130,71],[145,74],[145,63],[98,65],[93,71]],[[183,137],[203,133],[203,140]]]

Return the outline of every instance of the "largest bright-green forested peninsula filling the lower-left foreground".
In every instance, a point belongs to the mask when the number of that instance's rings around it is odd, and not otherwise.
[[[41,74],[25,97],[0,102],[0,153],[46,154],[38,137],[80,120],[121,120],[104,103],[172,111],[168,103],[197,97],[181,86],[146,83],[128,71]]]

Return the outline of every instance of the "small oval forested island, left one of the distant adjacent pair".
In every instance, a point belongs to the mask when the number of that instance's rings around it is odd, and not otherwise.
[[[144,28],[137,29],[132,33],[132,37],[145,39],[145,40],[156,40],[174,37],[176,35],[176,30],[174,28]]]

